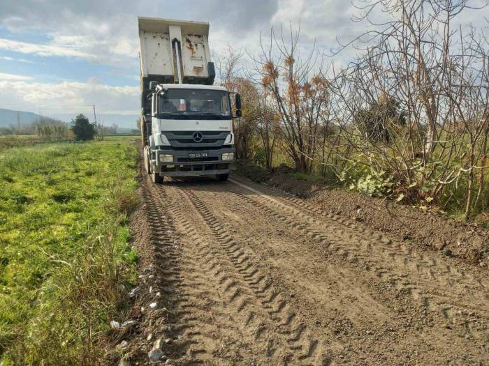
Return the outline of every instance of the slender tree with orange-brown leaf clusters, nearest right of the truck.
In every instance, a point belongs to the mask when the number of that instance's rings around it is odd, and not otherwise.
[[[328,82],[322,75],[319,52],[313,47],[304,58],[300,55],[300,30],[290,28],[286,37],[281,27],[277,35],[272,29],[270,44],[260,40],[261,54],[253,57],[252,73],[274,102],[279,116],[286,152],[295,169],[312,171],[318,148],[321,114],[328,103]]]

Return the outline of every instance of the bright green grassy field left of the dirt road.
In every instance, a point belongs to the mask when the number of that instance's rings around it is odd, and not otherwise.
[[[130,139],[0,153],[0,364],[94,364],[136,254]]]

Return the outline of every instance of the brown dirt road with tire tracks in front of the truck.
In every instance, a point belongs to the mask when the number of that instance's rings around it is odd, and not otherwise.
[[[242,178],[142,192],[140,364],[159,337],[170,365],[489,364],[484,268]]]

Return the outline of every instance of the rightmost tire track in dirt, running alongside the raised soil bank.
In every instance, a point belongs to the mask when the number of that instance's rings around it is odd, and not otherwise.
[[[425,256],[404,243],[395,243],[382,234],[369,231],[336,215],[323,213],[312,205],[291,199],[302,208],[298,210],[239,181],[232,183],[245,190],[234,190],[236,195],[286,224],[291,224],[312,240],[328,245],[330,250],[342,252],[349,261],[377,261],[376,273],[380,278],[405,289],[411,293],[414,300],[420,300],[429,310],[443,312],[449,318],[451,312],[447,310],[455,307],[456,303],[459,307],[462,305],[480,312],[486,318],[489,317],[489,299],[484,279],[475,279],[464,270],[442,263],[435,256]],[[257,195],[246,195],[250,188],[251,192]],[[321,215],[321,221],[311,212]],[[297,219],[293,219],[294,216]],[[327,230],[324,229],[325,226]],[[352,248],[355,244],[356,247]],[[382,264],[392,264],[393,268]],[[406,279],[405,275],[409,275],[410,278]],[[468,294],[470,301],[461,301],[460,293],[464,293],[465,296]]]

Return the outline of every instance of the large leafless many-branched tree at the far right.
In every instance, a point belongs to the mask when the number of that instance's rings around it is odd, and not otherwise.
[[[446,187],[463,186],[469,218],[475,171],[486,168],[488,61],[475,31],[454,26],[467,1],[366,4],[363,19],[375,30],[358,38],[365,54],[332,87],[342,139],[361,164],[387,172],[400,198],[447,202]],[[377,10],[391,20],[375,24]]]

